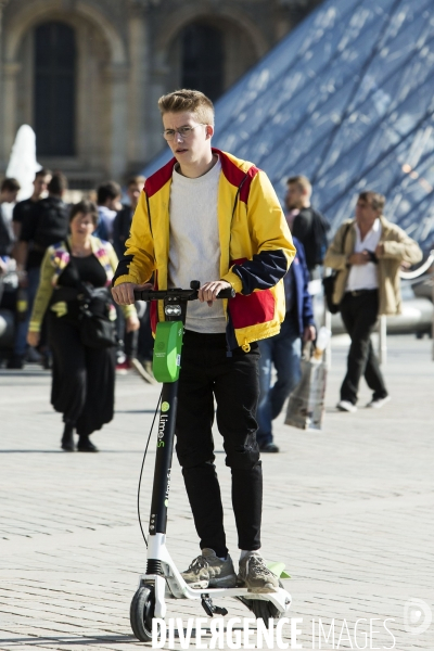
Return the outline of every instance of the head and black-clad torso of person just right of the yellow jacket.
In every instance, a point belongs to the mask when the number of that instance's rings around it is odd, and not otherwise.
[[[290,177],[286,181],[286,219],[294,238],[302,242],[306,254],[306,266],[310,280],[316,277],[317,268],[322,265],[328,247],[327,233],[330,225],[310,205],[312,188],[305,176]]]

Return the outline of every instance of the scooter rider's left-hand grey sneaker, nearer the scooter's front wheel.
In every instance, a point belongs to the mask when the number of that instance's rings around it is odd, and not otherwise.
[[[237,574],[229,553],[226,561],[220,561],[214,549],[208,548],[203,549],[181,575],[192,588],[234,588],[237,585]]]

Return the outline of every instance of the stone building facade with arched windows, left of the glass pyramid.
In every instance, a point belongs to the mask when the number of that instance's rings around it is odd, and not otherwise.
[[[158,97],[217,99],[319,0],[0,0],[0,175],[17,128],[72,187],[163,146]]]

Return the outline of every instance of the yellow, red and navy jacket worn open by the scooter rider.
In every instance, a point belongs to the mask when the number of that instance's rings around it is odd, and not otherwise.
[[[252,163],[213,149],[220,156],[218,227],[220,279],[237,295],[225,301],[227,341],[233,349],[280,331],[285,316],[283,277],[295,247],[279,200],[267,175]],[[169,260],[169,201],[176,158],[146,179],[132,218],[126,252],[113,284],[144,283],[166,290]],[[192,279],[194,280],[194,279]],[[201,282],[218,279],[200,279]],[[151,323],[164,320],[164,305],[153,305]]]

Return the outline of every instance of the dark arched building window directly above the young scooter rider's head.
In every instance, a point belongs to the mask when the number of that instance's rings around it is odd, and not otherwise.
[[[210,100],[224,92],[224,35],[205,23],[192,23],[182,33],[182,86],[201,90]]]

